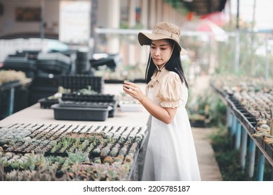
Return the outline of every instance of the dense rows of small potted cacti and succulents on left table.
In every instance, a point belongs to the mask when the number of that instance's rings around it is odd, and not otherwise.
[[[29,171],[28,173],[33,173],[35,177],[39,173],[38,169],[43,168],[47,170],[47,173],[52,173],[61,167],[64,176],[70,174],[65,180],[126,180],[131,167],[129,165],[133,161],[133,155],[139,146],[140,140],[138,141],[138,138],[142,139],[143,137],[139,127],[89,127],[88,125],[68,127],[68,125],[23,124],[11,125],[10,127],[14,129],[13,134],[5,133],[2,136],[1,130],[5,127],[0,130],[0,141],[14,141],[15,143],[13,146],[9,146],[8,150],[10,152],[34,151],[36,154],[15,155],[8,153],[6,156],[8,151],[3,153],[0,148],[0,166],[3,164],[4,166],[11,166],[13,169],[23,169]],[[18,129],[25,134],[19,134]],[[133,137],[135,138],[133,139]],[[123,147],[121,148],[121,146]],[[66,150],[68,157],[45,157],[43,154],[45,151],[64,153]],[[83,152],[84,150],[87,152]],[[89,155],[100,155],[100,157],[95,157],[91,162]],[[82,164],[84,162],[88,166]],[[128,166],[124,164],[128,164]],[[47,174],[44,174],[45,172],[40,173],[43,175],[43,179],[50,179]],[[32,176],[29,178],[27,176],[22,177],[25,180],[33,179]]]

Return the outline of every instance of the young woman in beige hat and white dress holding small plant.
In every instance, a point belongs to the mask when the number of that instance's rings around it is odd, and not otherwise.
[[[149,45],[146,94],[124,81],[123,89],[152,115],[142,180],[200,180],[191,125],[185,109],[188,98],[180,54],[180,29],[160,22],[152,33],[139,33],[140,45]]]

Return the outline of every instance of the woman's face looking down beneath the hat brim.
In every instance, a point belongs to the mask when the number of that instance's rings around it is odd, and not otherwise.
[[[172,45],[167,40],[152,40],[150,48],[151,56],[154,64],[161,65],[165,64],[172,54]]]

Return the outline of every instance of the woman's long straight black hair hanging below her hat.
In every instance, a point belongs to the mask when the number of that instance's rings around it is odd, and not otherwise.
[[[182,68],[182,62],[180,59],[180,53],[179,53],[177,44],[175,44],[174,40],[171,40],[171,39],[167,39],[167,40],[168,42],[170,42],[172,46],[175,45],[175,47],[173,48],[172,56],[170,56],[169,61],[165,64],[165,68],[166,70],[176,72],[177,75],[179,75],[182,81],[182,84],[185,83],[186,87],[189,88],[188,82],[186,81],[186,77],[184,75],[184,70]],[[152,56],[150,52],[149,60],[146,67],[146,73],[145,73],[145,79],[147,84],[149,83],[149,81],[151,81],[151,77],[154,74],[155,70],[156,70],[156,65],[154,64],[154,61],[152,60]]]

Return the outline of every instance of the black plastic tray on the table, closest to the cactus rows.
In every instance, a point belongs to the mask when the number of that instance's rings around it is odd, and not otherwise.
[[[54,109],[55,120],[104,121],[109,112],[108,107],[60,107],[59,104],[54,104],[51,108]]]

